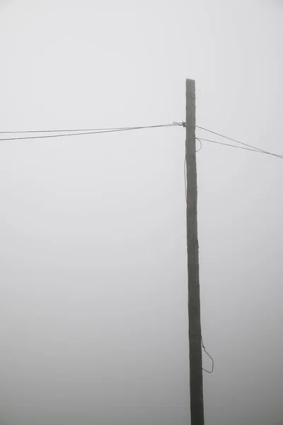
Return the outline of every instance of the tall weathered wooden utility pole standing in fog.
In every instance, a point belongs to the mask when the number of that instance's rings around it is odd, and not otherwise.
[[[186,80],[187,273],[190,348],[191,425],[204,425],[202,330],[200,325],[199,244],[197,239],[197,164],[195,154],[195,81]]]

